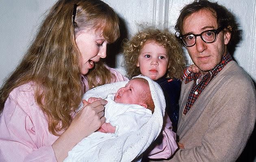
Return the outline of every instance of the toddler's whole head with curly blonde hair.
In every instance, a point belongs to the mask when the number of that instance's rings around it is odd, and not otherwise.
[[[124,43],[127,76],[180,78],[185,66],[180,43],[168,30],[145,28]]]

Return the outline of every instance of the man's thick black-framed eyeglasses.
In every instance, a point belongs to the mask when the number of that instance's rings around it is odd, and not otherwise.
[[[201,39],[205,43],[213,43],[213,42],[215,42],[215,40],[217,38],[217,34],[219,34],[219,32],[221,32],[221,30],[223,30],[222,26],[220,26],[217,29],[206,30],[206,31],[202,32],[201,34],[182,35],[182,36],[179,36],[179,38],[182,40],[183,45],[186,47],[191,47],[191,46],[195,45],[197,36],[200,36]]]

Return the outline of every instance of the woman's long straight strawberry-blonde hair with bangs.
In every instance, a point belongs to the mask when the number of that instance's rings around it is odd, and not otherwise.
[[[73,25],[72,12],[77,4]],[[10,92],[25,83],[36,83],[35,100],[48,116],[49,131],[59,135],[68,128],[71,114],[78,107],[81,96],[81,75],[78,67],[79,51],[75,36],[84,29],[102,30],[108,43],[119,37],[119,19],[113,9],[100,0],[59,0],[50,9],[23,60],[0,89],[0,113]],[[93,70],[89,85],[107,83],[111,72],[104,64]],[[92,82],[98,78],[96,84]]]

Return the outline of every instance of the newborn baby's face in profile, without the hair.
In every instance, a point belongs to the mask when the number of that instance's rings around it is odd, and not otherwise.
[[[140,94],[144,92],[145,86],[143,81],[132,79],[125,87],[117,90],[114,101],[123,104],[140,104]]]

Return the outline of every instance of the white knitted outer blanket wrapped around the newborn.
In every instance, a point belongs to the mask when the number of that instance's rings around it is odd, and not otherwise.
[[[144,124],[137,131],[128,131],[124,134],[119,134],[118,136],[113,136],[113,134],[104,134],[105,137],[109,136],[108,139],[104,140],[104,142],[96,143],[95,149],[91,151],[91,158],[80,159],[80,155],[74,154],[72,156],[68,156],[65,159],[65,162],[131,162],[133,160],[136,161],[140,159],[141,154],[149,147],[149,145],[161,132],[163,126],[163,116],[165,113],[165,97],[161,87],[156,82],[145,76],[139,75],[137,77],[144,78],[148,81],[152,99],[155,104],[154,113],[148,122],[146,122],[146,124]],[[128,83],[128,81],[121,81],[95,87],[92,90],[89,90],[85,96],[83,96],[83,99],[88,100],[90,97],[106,98],[109,93],[115,93],[120,87],[124,87],[126,83]],[[97,133],[98,136],[103,134],[101,132],[95,133]],[[118,131],[116,130],[115,135],[117,134]],[[99,139],[97,138],[95,141],[97,140]],[[85,146],[78,143],[78,145],[76,145],[73,149],[85,149]],[[86,154],[89,152],[84,151],[83,153]]]

